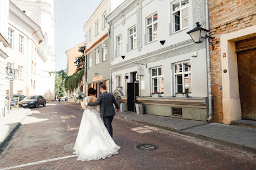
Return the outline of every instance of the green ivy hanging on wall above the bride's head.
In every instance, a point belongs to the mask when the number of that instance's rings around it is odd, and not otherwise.
[[[65,89],[69,90],[69,92],[73,92],[82,81],[84,75],[84,69],[80,70],[79,72],[73,74],[72,76],[67,76],[65,78]]]

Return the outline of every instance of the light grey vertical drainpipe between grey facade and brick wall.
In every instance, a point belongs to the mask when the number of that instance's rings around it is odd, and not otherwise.
[[[209,2],[205,0],[205,22],[206,29],[210,30],[209,21]],[[208,33],[210,34],[210,32]],[[212,120],[212,80],[211,80],[211,53],[210,53],[210,42],[206,41],[206,54],[207,54],[207,80],[208,80],[208,118],[207,121]]]

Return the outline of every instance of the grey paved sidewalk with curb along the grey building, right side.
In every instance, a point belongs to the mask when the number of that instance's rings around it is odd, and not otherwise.
[[[69,102],[65,105],[81,108],[79,104]],[[121,112],[116,117],[256,153],[256,128],[220,123],[208,124],[205,121],[133,112]]]

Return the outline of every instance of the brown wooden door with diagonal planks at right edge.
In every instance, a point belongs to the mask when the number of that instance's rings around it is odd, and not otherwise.
[[[242,118],[256,120],[256,49],[237,53]]]

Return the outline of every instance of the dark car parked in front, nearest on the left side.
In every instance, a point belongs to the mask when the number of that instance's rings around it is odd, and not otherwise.
[[[40,105],[46,105],[46,100],[42,96],[28,96],[20,102],[20,106],[24,108],[38,108]]]

